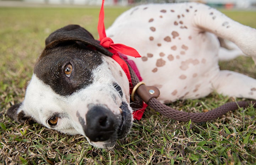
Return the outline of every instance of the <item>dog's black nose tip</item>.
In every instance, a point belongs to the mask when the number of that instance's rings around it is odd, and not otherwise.
[[[86,114],[86,136],[93,142],[107,141],[115,132],[116,117],[103,106],[93,106]]]

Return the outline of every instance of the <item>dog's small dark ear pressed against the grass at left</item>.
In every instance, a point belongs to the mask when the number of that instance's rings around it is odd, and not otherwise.
[[[24,122],[25,120],[29,120],[29,123],[33,121],[33,119],[29,116],[26,116],[23,110],[20,110],[22,103],[12,105],[7,110],[7,115],[16,122]]]

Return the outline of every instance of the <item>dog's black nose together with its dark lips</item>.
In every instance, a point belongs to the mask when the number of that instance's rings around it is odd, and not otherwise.
[[[92,106],[86,114],[83,130],[92,142],[115,142],[124,137],[131,127],[131,112],[126,103],[120,106],[121,115],[115,115],[102,105]]]

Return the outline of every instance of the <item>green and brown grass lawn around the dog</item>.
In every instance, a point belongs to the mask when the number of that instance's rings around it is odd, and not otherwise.
[[[108,27],[127,8],[107,7]],[[7,109],[21,102],[44,39],[66,24],[80,24],[97,38],[99,8],[0,8],[0,164],[255,164],[255,109],[238,109],[205,123],[169,121],[147,109],[131,133],[114,150],[93,148],[83,136],[69,136],[37,123],[15,123]],[[256,28],[256,12],[223,11]],[[220,62],[222,69],[255,76],[248,57]],[[243,99],[238,99],[243,100]],[[213,109],[234,98],[212,93],[197,100],[180,100],[173,108],[191,112]]]

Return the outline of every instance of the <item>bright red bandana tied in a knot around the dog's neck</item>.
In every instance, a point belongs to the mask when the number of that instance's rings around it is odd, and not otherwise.
[[[104,0],[102,0],[102,6],[101,6],[101,9],[99,12],[98,33],[99,33],[100,45],[102,45],[108,51],[113,53],[112,58],[116,62],[118,62],[118,64],[124,70],[128,80],[129,80],[130,94],[131,94],[131,90],[133,89],[133,86],[131,83],[131,76],[130,76],[129,68],[128,68],[126,62],[120,57],[119,53],[128,55],[128,56],[132,56],[132,57],[141,57],[141,55],[134,48],[131,48],[131,47],[123,45],[123,44],[114,44],[113,40],[111,40],[111,38],[106,36],[105,26],[104,26]],[[134,119],[140,120],[146,107],[147,107],[147,104],[144,103],[142,109],[134,111],[132,113]]]

